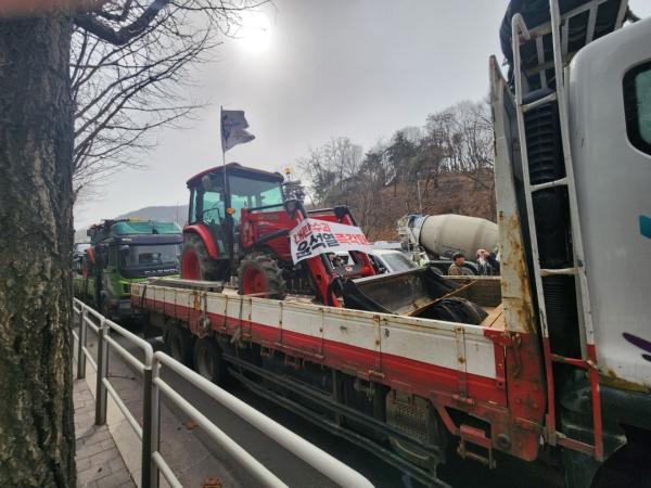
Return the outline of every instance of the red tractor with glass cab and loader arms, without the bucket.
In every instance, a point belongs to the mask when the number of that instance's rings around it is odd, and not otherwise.
[[[182,278],[227,281],[237,272],[240,294],[279,299],[288,283],[307,282],[321,303],[340,306],[341,286],[333,279],[375,274],[369,256],[359,252],[350,252],[354,262],[346,266],[336,266],[332,254],[294,265],[289,233],[302,220],[355,226],[355,219],[345,206],[305,210],[298,200],[285,200],[278,172],[230,163],[192,177],[188,188]]]

